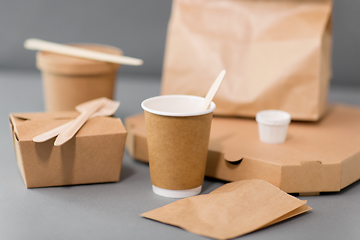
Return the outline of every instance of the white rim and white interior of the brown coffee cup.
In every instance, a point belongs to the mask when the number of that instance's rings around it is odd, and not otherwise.
[[[203,97],[191,95],[163,95],[144,100],[141,107],[147,112],[162,116],[200,116],[211,113],[216,108],[215,103],[211,102],[207,110],[198,111],[204,100]]]

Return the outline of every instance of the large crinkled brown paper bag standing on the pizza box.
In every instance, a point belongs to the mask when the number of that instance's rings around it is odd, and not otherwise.
[[[162,94],[205,96],[226,69],[215,114],[280,109],[318,120],[331,77],[331,14],[332,0],[174,0]]]

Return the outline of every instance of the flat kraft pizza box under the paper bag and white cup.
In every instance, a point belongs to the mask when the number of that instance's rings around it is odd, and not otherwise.
[[[340,191],[360,179],[360,108],[336,104],[316,123],[292,122],[283,144],[259,140],[254,119],[215,117],[205,175],[262,179],[288,193]],[[127,150],[148,162],[142,114],[126,119]]]

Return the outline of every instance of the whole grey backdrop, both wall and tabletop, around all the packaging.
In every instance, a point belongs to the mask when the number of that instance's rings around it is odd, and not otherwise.
[[[60,43],[93,42],[120,47],[144,59],[123,67],[115,114],[142,112],[143,99],[159,94],[169,0],[0,0],[0,239],[208,239],[139,214],[174,199],[151,191],[149,166],[124,154],[121,181],[26,189],[11,142],[10,112],[44,111],[30,37]],[[337,0],[334,9],[334,79],[329,100],[360,105],[360,1]],[[127,76],[126,76],[127,75]],[[136,93],[136,94],[134,94]],[[223,182],[206,179],[203,193]],[[359,239],[360,182],[307,200],[309,213],[240,239]]]

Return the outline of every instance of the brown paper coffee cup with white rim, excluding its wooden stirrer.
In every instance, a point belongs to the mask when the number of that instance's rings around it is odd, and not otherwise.
[[[144,109],[154,193],[184,198],[201,192],[212,112],[198,111],[204,98],[164,95],[146,99]]]

